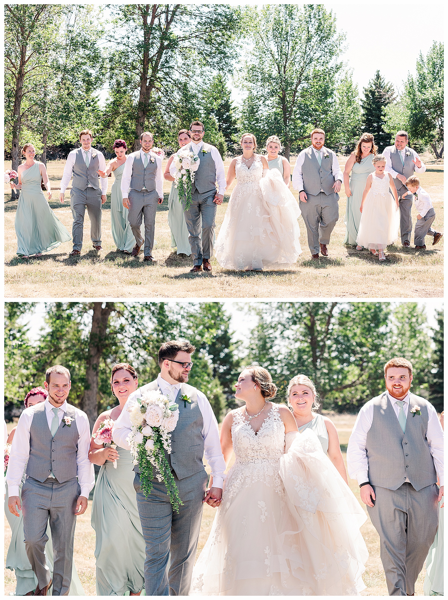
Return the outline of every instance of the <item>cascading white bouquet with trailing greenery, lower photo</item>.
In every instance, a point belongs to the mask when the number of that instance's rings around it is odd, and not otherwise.
[[[165,451],[171,454],[171,431],[174,431],[179,418],[178,404],[169,404],[159,389],[143,392],[135,398],[129,411],[132,430],[126,441],[131,446],[134,464],[140,468],[140,489],[145,497],[152,491],[153,467],[158,481],[167,486],[169,502],[175,511],[183,504],[169,468]]]

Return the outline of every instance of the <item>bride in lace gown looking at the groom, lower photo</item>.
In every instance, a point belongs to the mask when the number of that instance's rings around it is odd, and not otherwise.
[[[364,511],[316,434],[299,434],[289,409],[269,401],[266,369],[247,367],[235,387],[246,406],[224,419],[221,446],[226,464],[232,449],[236,460],[190,595],[358,595]]]

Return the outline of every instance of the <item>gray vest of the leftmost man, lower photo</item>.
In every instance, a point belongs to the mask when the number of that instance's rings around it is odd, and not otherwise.
[[[52,437],[45,403],[36,405],[29,429],[29,459],[26,466],[26,475],[29,477],[42,482],[53,471],[60,484],[76,477],[79,433],[75,421],[76,413],[72,406],[67,405],[65,416],[71,416],[73,419],[70,427],[65,425],[62,419],[55,437]]]

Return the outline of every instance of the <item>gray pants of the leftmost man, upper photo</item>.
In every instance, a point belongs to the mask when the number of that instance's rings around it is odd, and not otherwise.
[[[89,213],[90,239],[94,246],[101,246],[101,189],[86,188],[70,190],[70,207],[73,215],[73,250],[83,248],[84,213]]]

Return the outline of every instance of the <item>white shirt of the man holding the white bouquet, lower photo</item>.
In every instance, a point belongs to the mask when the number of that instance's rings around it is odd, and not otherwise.
[[[180,389],[180,383],[172,385],[163,379],[159,373],[157,377],[157,385],[159,386],[162,394],[166,395],[171,403],[174,403]],[[202,437],[204,438],[204,455],[207,458],[207,462],[210,465],[211,476],[213,477],[213,487],[222,488],[226,470],[226,463],[221,451],[221,444],[219,441],[219,429],[216,416],[214,416],[213,410],[211,409],[210,402],[207,397],[202,394],[199,390],[198,394],[198,406],[202,413],[202,419],[204,420],[204,427],[202,427]],[[125,404],[119,418],[115,421],[112,430],[113,440],[121,448],[130,450],[126,437],[131,433],[131,419],[129,413],[126,410],[128,406],[134,404],[135,398],[141,397],[141,388],[138,388],[135,392],[129,396],[128,401]]]

